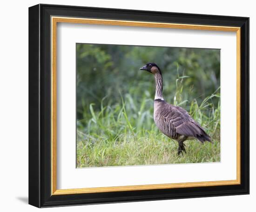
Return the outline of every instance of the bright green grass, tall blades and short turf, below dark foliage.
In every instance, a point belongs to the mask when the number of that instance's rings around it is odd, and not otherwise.
[[[167,102],[182,106],[199,122],[213,144],[185,141],[187,154],[177,155],[178,144],[163,135],[153,120],[153,99],[145,91],[141,98],[127,93],[117,103],[105,97],[100,109],[84,104],[84,119],[77,120],[77,167],[132,166],[220,161],[219,89],[200,104],[184,100],[183,80],[176,80],[174,99]],[[131,92],[132,93],[132,92]],[[213,99],[218,99],[214,105]]]

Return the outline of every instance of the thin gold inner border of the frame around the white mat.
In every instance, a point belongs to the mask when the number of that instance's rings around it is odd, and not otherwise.
[[[226,31],[236,32],[236,179],[222,181],[206,181],[206,182],[188,182],[188,183],[171,183],[171,184],[153,184],[138,186],[114,186],[114,187],[95,187],[95,188],[79,188],[79,189],[57,189],[57,23],[75,23],[75,24],[98,24],[98,25],[118,25],[118,26],[140,26],[140,27],[158,27],[158,28],[175,28],[175,29],[194,29],[194,30],[210,30],[210,31]],[[240,135],[240,55],[241,55],[241,28],[231,26],[207,26],[207,25],[190,25],[190,24],[174,24],[174,23],[158,23],[144,21],[128,21],[128,20],[106,20],[106,19],[86,19],[86,18],[70,18],[70,17],[51,17],[51,193],[52,195],[62,194],[81,194],[81,193],[97,193],[97,192],[120,192],[120,191],[138,191],[150,189],[168,189],[168,188],[184,188],[197,186],[226,186],[238,185],[241,183],[241,135]]]

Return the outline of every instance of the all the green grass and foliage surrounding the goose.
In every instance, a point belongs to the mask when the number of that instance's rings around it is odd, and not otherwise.
[[[220,50],[77,44],[77,167],[220,161]],[[182,106],[214,143],[177,142],[155,126],[152,74],[160,66],[163,96]]]

